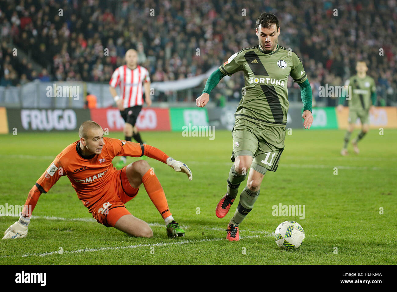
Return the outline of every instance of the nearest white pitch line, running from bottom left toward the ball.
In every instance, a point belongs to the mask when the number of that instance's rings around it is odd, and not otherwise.
[[[258,238],[259,235],[251,235],[251,236],[241,236],[240,238]],[[76,249],[72,251],[63,251],[64,253],[84,253],[84,252],[95,252],[95,251],[106,251],[106,250],[116,250],[116,249],[134,249],[134,248],[142,248],[142,247],[158,247],[158,246],[173,246],[173,245],[182,245],[182,244],[191,244],[198,242],[212,242],[212,241],[220,241],[225,240],[225,238],[213,238],[213,239],[199,239],[199,240],[184,240],[179,242],[159,242],[156,244],[136,244],[133,246],[115,246],[115,247],[101,247],[101,248],[84,248],[84,249]],[[30,256],[39,256],[45,257],[47,255],[59,254],[59,251],[48,251],[45,253],[26,253],[22,255],[22,257],[30,257]],[[3,255],[2,257],[15,257],[15,255]]]

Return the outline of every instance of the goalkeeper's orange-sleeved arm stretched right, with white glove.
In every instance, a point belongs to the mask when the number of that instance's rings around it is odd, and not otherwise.
[[[131,157],[142,157],[143,155],[166,163],[172,167],[173,170],[178,172],[184,172],[187,174],[189,180],[192,180],[193,175],[190,168],[183,162],[176,161],[172,157],[169,157],[160,149],[150,146],[143,145],[140,143],[134,143],[130,141],[121,141],[119,139],[108,138],[112,143],[114,149],[114,156],[131,156]]]

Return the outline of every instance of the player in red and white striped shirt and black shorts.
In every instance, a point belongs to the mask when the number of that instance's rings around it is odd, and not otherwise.
[[[125,53],[125,63],[125,65],[114,70],[109,82],[109,90],[125,121],[125,140],[131,141],[131,138],[134,137],[138,143],[143,144],[135,123],[143,106],[142,87],[145,87],[145,102],[147,106],[152,104],[149,72],[146,68],[138,65],[138,54],[134,49],[129,49]],[[119,95],[117,95],[116,91],[117,86],[120,87]],[[116,164],[116,168],[123,168],[126,165],[126,161],[127,157],[122,156],[121,160]]]

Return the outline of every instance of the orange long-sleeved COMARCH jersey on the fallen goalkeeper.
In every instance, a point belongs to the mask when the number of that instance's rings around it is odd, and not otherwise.
[[[99,198],[103,195],[104,190],[107,189],[106,184],[110,182],[112,174],[117,171],[112,165],[114,157],[146,155],[164,163],[168,158],[164,152],[150,145],[104,137],[102,152],[98,155],[93,154],[89,159],[77,151],[77,147],[80,147],[79,143],[80,140],[70,144],[56,156],[48,169],[37,180],[35,187],[29,192],[25,205],[33,203],[34,208],[38,199],[38,191],[46,193],[61,176],[67,176],[79,199],[86,207],[90,207],[87,202],[95,202],[96,197]]]

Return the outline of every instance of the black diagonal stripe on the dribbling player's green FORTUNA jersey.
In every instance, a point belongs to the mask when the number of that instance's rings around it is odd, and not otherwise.
[[[255,52],[253,51],[246,52],[244,57],[249,67],[251,68],[252,73],[254,73],[254,75],[269,76],[268,72],[266,71],[265,67],[263,66],[262,62],[260,61],[258,55]],[[254,59],[256,59],[258,63],[252,63]],[[270,110],[272,111],[274,122],[282,123],[284,115],[276,89],[274,88],[273,85],[265,85],[265,84],[264,85],[261,84],[260,88],[262,88],[266,100],[268,101]]]

